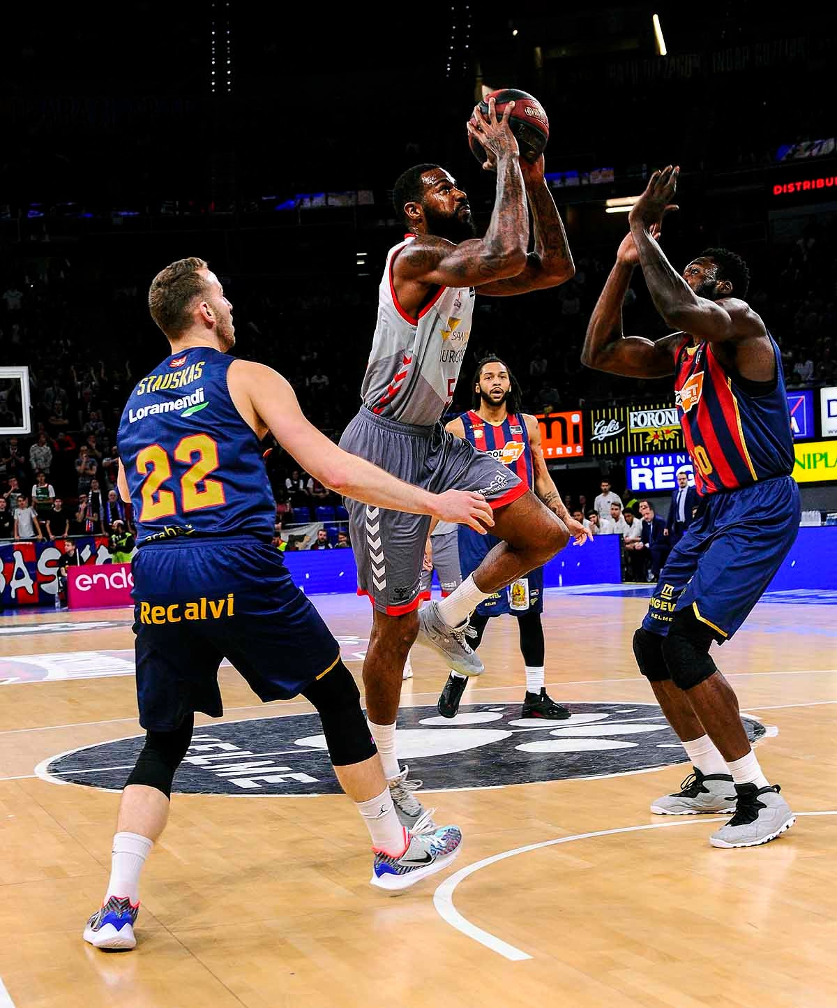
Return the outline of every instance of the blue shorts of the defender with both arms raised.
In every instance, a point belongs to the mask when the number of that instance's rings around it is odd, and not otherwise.
[[[645,629],[665,636],[674,614],[691,606],[719,643],[729,640],[788,555],[799,523],[790,476],[705,497],[660,573]]]

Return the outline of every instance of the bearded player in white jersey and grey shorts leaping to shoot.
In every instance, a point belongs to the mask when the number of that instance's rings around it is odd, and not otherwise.
[[[418,782],[407,780],[408,768],[399,766],[395,722],[404,661],[419,621],[446,667],[479,674],[482,662],[465,641],[470,613],[554,556],[570,531],[578,533],[502,462],[476,452],[439,422],[465,355],[474,293],[523,294],[564,283],[574,274],[544,180],[543,156],[532,163],[521,159],[509,125],[513,111],[510,102],[498,119],[490,99],[486,115],[475,109],[467,125],[468,135],[485,152],[486,166],[497,171],[494,212],[482,238],[474,236],[467,196],[444,168],[419,164],[396,181],[395,208],[409,234],[387,256],[363,406],[340,440],[347,452],[428,490],[478,490],[494,509],[492,532],[503,540],[451,595],[418,614],[430,519],[346,501],[358,591],[374,607],[364,661],[367,716],[401,823],[414,831],[432,829],[433,823],[415,796]],[[530,207],[532,252],[527,251]]]

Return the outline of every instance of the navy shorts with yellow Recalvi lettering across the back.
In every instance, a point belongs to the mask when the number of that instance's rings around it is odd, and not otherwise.
[[[288,700],[336,664],[339,645],[281,553],[249,535],[174,539],[133,560],[137,702],[146,730],[224,714],[224,658],[262,701]]]

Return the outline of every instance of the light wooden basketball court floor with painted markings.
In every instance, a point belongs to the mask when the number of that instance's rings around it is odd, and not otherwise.
[[[762,603],[715,655],[800,813],[724,851],[711,816],[649,811],[689,767],[634,663],[647,603],[590,591],[547,593],[547,683],[571,722],[515,724],[511,618],[490,625],[455,722],[434,719],[446,670],[414,649],[406,762],[464,844],[397,898],[368,884],[348,800],[322,793],[311,708],[265,707],[224,668],[226,716],[196,719],[192,750],[213,759],[175,778],[192,793],[173,796],[127,954],[82,930],[110,870],[108,788],[138,744],[114,740],[140,734],[130,612],[0,617],[0,1006],[837,1005],[835,600]],[[314,601],[360,678],[367,601]]]

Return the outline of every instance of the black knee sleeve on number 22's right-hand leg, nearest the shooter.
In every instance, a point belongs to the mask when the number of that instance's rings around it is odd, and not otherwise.
[[[378,752],[361,710],[361,694],[341,661],[303,689],[302,696],[317,710],[334,766],[363,763]]]

